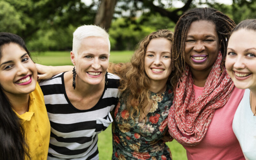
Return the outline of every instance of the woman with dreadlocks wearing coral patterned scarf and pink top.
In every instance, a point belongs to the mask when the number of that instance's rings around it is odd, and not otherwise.
[[[212,8],[185,12],[176,24],[172,82],[178,81],[168,115],[170,135],[192,159],[244,159],[232,121],[244,90],[226,72],[227,40],[235,23]]]

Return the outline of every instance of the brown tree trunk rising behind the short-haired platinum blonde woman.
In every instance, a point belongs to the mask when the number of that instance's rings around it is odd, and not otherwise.
[[[108,30],[113,18],[117,0],[101,0],[94,24]]]

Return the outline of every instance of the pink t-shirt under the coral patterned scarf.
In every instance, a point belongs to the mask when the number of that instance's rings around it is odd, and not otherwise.
[[[193,85],[195,99],[204,87]],[[225,106],[216,109],[204,139],[196,146],[183,146],[188,160],[244,160],[238,140],[232,130],[232,122],[244,90],[234,88]]]

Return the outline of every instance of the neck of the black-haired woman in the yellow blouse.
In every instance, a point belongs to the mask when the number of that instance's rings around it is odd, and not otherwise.
[[[17,112],[19,115],[22,115],[29,110],[29,94],[10,94],[5,92],[5,95],[9,99],[12,108]]]

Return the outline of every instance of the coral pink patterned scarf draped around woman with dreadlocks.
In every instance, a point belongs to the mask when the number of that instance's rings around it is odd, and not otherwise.
[[[182,145],[194,146],[201,142],[215,109],[223,107],[233,91],[234,83],[226,68],[221,73],[221,59],[219,52],[204,85],[203,94],[196,100],[189,67],[180,78],[180,87],[176,88],[173,105],[169,110],[168,127],[170,135]],[[182,133],[190,138],[184,137]]]

